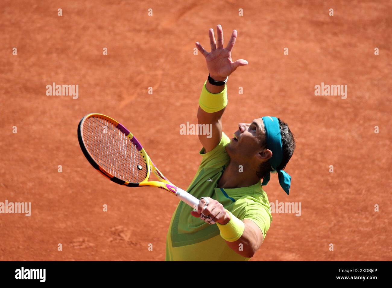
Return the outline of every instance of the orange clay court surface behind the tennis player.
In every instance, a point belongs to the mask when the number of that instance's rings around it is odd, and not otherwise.
[[[301,216],[273,213],[251,261],[392,260],[391,2],[216,1],[214,7],[2,2],[0,202],[31,202],[32,211],[0,214],[0,260],[165,259],[178,199],[102,177],[80,150],[77,126],[90,112],[120,121],[164,175],[186,189],[201,145],[196,135],[181,135],[180,125],[197,123],[208,76],[194,43],[209,51],[208,29],[217,24],[225,41],[238,31],[233,61],[249,62],[227,82],[223,132],[230,136],[239,122],[270,115],[298,139],[285,169],[290,196],[274,175],[264,189],[270,203],[301,203]],[[78,98],[47,96],[53,82],[78,85]],[[347,85],[347,98],[315,96],[321,83]]]

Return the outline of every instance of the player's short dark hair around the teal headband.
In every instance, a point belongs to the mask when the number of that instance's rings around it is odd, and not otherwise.
[[[294,136],[291,133],[289,126],[287,123],[281,121],[279,118],[279,126],[280,126],[280,134],[282,136],[282,149],[283,149],[283,158],[282,162],[278,167],[276,167],[279,170],[283,170],[287,163],[289,162],[291,156],[293,155],[294,149],[295,149],[295,141],[294,141]],[[266,143],[263,143],[263,146],[265,146]],[[262,146],[262,147],[263,147]],[[258,178],[263,179],[267,173],[272,171],[271,164],[269,161],[265,161],[260,164],[256,171],[256,175]]]

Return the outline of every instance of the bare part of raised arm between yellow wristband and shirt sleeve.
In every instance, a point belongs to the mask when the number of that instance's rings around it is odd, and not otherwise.
[[[222,138],[222,121],[221,117],[225,109],[219,110],[218,112],[208,113],[203,109],[198,109],[197,118],[198,124],[206,125],[205,130],[208,133],[199,133],[199,140],[201,145],[204,147],[204,152],[207,153],[214,149]],[[208,125],[208,128],[207,128]]]

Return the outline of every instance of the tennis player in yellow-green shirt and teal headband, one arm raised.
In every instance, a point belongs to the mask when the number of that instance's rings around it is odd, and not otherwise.
[[[199,124],[212,124],[211,138],[199,135],[201,163],[187,188],[200,204],[193,210],[182,201],[178,204],[167,233],[167,261],[248,261],[260,248],[272,221],[263,190],[270,173],[278,174],[276,180],[287,194],[290,190],[291,177],[283,169],[295,142],[285,122],[266,116],[239,123],[231,140],[222,132],[228,76],[248,62],[232,62],[236,30],[226,48],[221,25],[217,33],[218,43],[214,30],[209,30],[209,53],[196,42],[209,70],[197,116]]]

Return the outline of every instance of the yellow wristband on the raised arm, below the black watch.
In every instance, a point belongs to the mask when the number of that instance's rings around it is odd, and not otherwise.
[[[211,93],[205,87],[204,82],[203,89],[201,89],[201,94],[199,98],[199,106],[207,113],[214,113],[222,110],[227,105],[227,85],[220,93]]]

